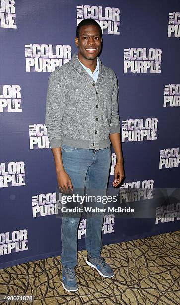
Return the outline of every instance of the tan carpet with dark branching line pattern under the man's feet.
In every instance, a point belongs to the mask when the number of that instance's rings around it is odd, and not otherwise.
[[[0,293],[33,295],[33,305],[179,305],[180,231],[104,246],[102,256],[115,271],[102,278],[78,252],[79,290],[62,287],[60,256],[0,270]],[[179,283],[180,284],[180,283]]]

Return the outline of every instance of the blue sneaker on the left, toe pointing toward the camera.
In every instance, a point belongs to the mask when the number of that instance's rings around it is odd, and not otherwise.
[[[77,291],[79,289],[74,268],[62,266],[62,286],[66,291]]]

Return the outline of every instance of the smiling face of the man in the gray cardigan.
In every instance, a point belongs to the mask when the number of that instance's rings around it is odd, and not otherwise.
[[[75,38],[78,46],[78,55],[85,59],[95,59],[101,50],[102,38],[100,30],[96,25],[84,25],[80,28],[79,38]]]

